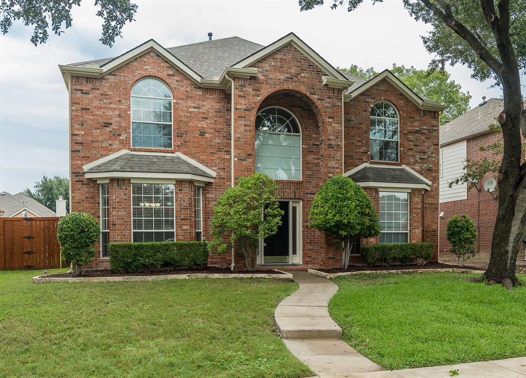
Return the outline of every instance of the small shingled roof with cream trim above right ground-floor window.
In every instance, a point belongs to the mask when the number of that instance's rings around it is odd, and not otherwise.
[[[364,163],[343,176],[361,187],[416,188],[429,190],[431,181],[406,165],[387,166]]]

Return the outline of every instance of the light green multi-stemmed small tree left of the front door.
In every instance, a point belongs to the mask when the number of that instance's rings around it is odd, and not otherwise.
[[[214,208],[210,251],[226,253],[238,248],[246,269],[255,270],[259,239],[274,235],[281,224],[283,211],[274,194],[277,189],[264,173],[242,177],[237,186],[228,188]]]

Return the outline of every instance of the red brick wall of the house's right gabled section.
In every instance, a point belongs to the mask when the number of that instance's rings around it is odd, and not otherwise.
[[[430,191],[422,192],[420,189],[411,191],[410,241],[434,243],[433,260],[438,260],[439,119],[437,112],[419,109],[387,80],[380,81],[353,98],[345,107],[345,170],[351,170],[363,162],[375,163],[370,160],[369,155],[369,115],[372,106],[381,100],[393,104],[400,116],[400,162],[377,163],[407,165],[432,182]],[[372,199],[378,203],[377,189],[369,189],[366,192],[369,196],[374,192]]]

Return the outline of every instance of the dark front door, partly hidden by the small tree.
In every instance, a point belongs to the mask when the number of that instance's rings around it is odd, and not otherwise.
[[[264,264],[289,262],[289,202],[279,201],[279,208],[284,212],[281,226],[276,234],[263,241]]]

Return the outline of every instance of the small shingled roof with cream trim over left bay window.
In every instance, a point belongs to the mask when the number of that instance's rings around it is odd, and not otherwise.
[[[213,170],[180,152],[170,154],[120,150],[86,164],[83,169],[86,178],[146,178],[148,173],[155,173],[155,177],[164,175],[164,178],[213,182],[216,177]]]

